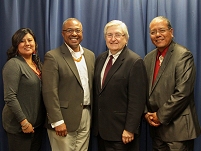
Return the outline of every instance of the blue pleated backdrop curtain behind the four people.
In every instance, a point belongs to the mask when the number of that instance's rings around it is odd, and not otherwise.
[[[96,56],[106,50],[103,28],[113,19],[128,26],[129,48],[144,57],[154,46],[149,39],[149,22],[158,15],[169,18],[174,28],[174,39],[189,48],[197,66],[195,99],[201,122],[201,1],[200,0],[0,0],[0,68],[6,62],[6,50],[11,36],[22,27],[31,28],[39,44],[39,54],[44,54],[62,44],[61,25],[69,17],[78,18],[83,24],[82,46]],[[4,106],[2,75],[0,75],[0,111]],[[148,126],[142,122],[141,151],[150,151],[151,139]],[[91,137],[90,150],[97,150]],[[195,151],[200,151],[201,137],[195,140]],[[0,117],[0,151],[7,151],[7,138]],[[44,132],[43,151],[50,151]]]

